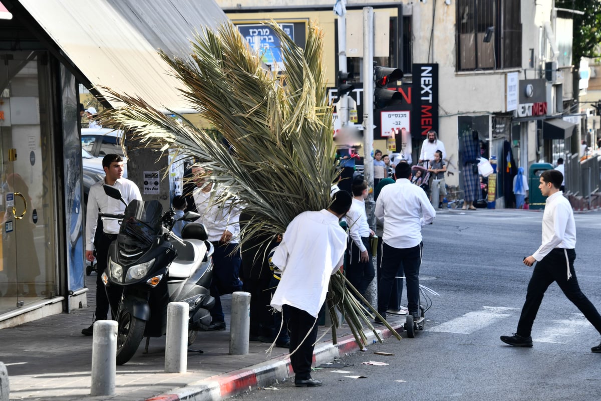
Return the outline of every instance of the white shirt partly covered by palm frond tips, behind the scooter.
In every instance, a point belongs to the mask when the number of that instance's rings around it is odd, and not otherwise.
[[[221,189],[218,191],[222,191]],[[213,191],[203,192],[197,188],[193,192],[197,212],[202,215],[197,221],[204,224],[210,242],[221,239],[225,230],[230,231],[230,243],[238,243],[240,236],[240,209],[237,207],[222,207],[211,201]],[[215,195],[218,197],[218,194]]]

